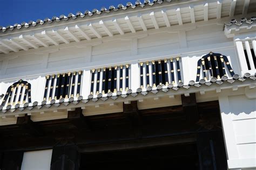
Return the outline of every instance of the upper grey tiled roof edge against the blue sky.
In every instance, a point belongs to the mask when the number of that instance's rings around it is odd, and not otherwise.
[[[75,20],[78,18],[89,18],[97,15],[101,15],[102,13],[111,14],[113,12],[117,12],[120,10],[128,10],[128,9],[141,9],[145,6],[153,6],[155,4],[162,4],[162,3],[170,3],[172,0],[144,0],[144,2],[140,2],[137,0],[135,4],[132,4],[131,2],[127,2],[125,5],[119,4],[117,6],[109,6],[109,9],[106,9],[105,7],[98,9],[93,9],[92,11],[86,10],[84,13],[78,11],[76,14],[69,13],[68,16],[60,15],[59,17],[53,16],[50,18],[45,19],[37,19],[36,21],[30,20],[30,22],[22,22],[21,24],[14,24],[14,25],[8,25],[6,27],[0,26],[0,33],[6,33],[8,31],[12,30],[22,30],[22,29],[28,29],[29,27],[38,27],[40,25],[44,24],[52,24],[52,23],[61,23],[61,22],[68,22],[69,20]]]

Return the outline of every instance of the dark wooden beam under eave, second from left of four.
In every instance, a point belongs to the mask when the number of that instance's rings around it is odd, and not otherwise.
[[[81,108],[69,111],[68,119],[78,130],[91,130],[92,128],[89,120],[83,115],[83,110]]]

